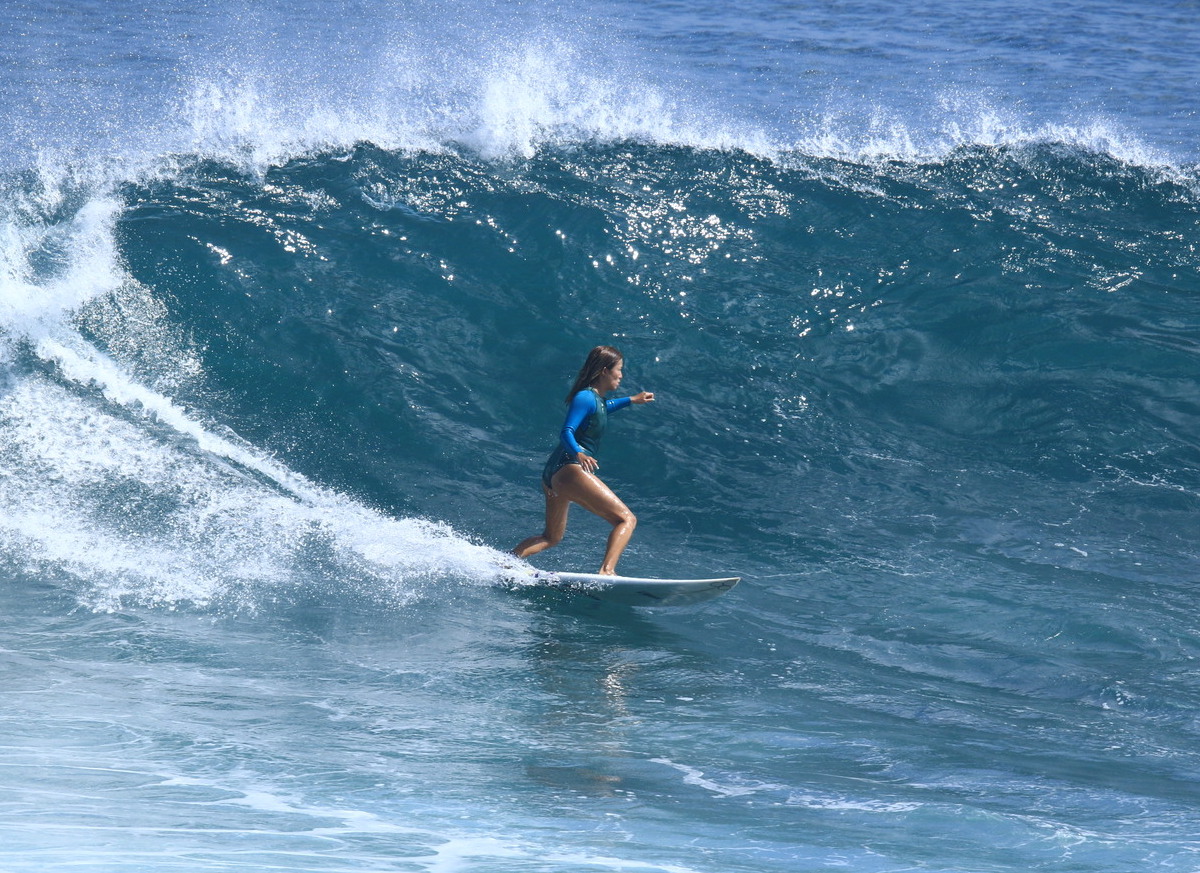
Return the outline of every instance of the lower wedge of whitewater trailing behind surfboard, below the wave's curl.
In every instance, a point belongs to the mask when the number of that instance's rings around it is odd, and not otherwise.
[[[382,516],[216,436],[110,365],[55,354],[72,384],[112,403],[43,378],[0,401],[0,540],[84,582],[88,606],[253,607],[330,583],[307,567],[313,548],[334,562],[332,584],[390,603],[431,580],[494,577],[498,553],[451,528]]]

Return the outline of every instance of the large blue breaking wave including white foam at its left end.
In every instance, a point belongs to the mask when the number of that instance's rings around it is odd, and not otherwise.
[[[476,542],[529,531],[482,507],[558,415],[510,410],[598,337],[672,386],[668,415],[631,421],[710,463],[637,464],[655,511],[706,536],[740,516],[697,493],[799,525],[798,469],[850,488],[852,518],[966,469],[1056,482],[1042,512],[1086,500],[1100,529],[1122,499],[1162,520],[1200,494],[1195,197],[1079,145],[787,167],[630,139],[520,161],[356,144],[98,191],[31,179],[0,254],[7,544],[82,567],[91,603],[270,590],[313,542],[379,590],[494,577]]]

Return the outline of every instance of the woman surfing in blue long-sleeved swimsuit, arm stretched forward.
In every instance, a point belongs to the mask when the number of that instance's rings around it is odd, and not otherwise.
[[[562,542],[566,531],[566,512],[571,504],[578,504],[612,525],[600,574],[616,574],[617,560],[634,535],[637,518],[595,475],[600,468],[595,458],[596,450],[608,425],[608,413],[616,413],[631,403],[654,401],[650,391],[642,391],[632,397],[605,399],[605,395],[620,385],[624,365],[624,356],[611,345],[598,345],[588,353],[575,386],[566,396],[566,421],[559,433],[558,446],[551,452],[541,471],[541,489],[546,494],[546,529],[512,549],[517,558],[528,558]]]

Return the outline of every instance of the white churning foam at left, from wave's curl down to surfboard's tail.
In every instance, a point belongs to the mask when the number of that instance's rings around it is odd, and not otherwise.
[[[431,580],[494,578],[494,550],[323,488],[174,402],[164,386],[202,380],[199,355],[124,272],[118,201],[72,185],[43,179],[0,218],[10,555],[82,580],[82,601],[97,609],[254,606],[312,584],[400,603]],[[108,332],[124,360],[84,339],[82,321]],[[329,578],[314,576],[314,549]]]

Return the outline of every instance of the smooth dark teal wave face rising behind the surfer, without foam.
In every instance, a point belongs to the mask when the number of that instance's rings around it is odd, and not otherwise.
[[[215,392],[220,423],[288,469],[371,505],[461,504],[455,523],[499,544],[492,506],[535,472],[601,339],[662,398],[625,417],[613,468],[637,458],[659,524],[773,562],[815,526],[874,540],[870,519],[930,499],[992,548],[1012,523],[1018,550],[1039,524],[1118,542],[1145,504],[1170,554],[1171,513],[1195,508],[1195,197],[1105,156],[364,145],[264,179],[198,163],[125,197],[130,276],[170,289],[158,329],[203,359],[176,402]],[[106,318],[83,333],[116,356]]]

